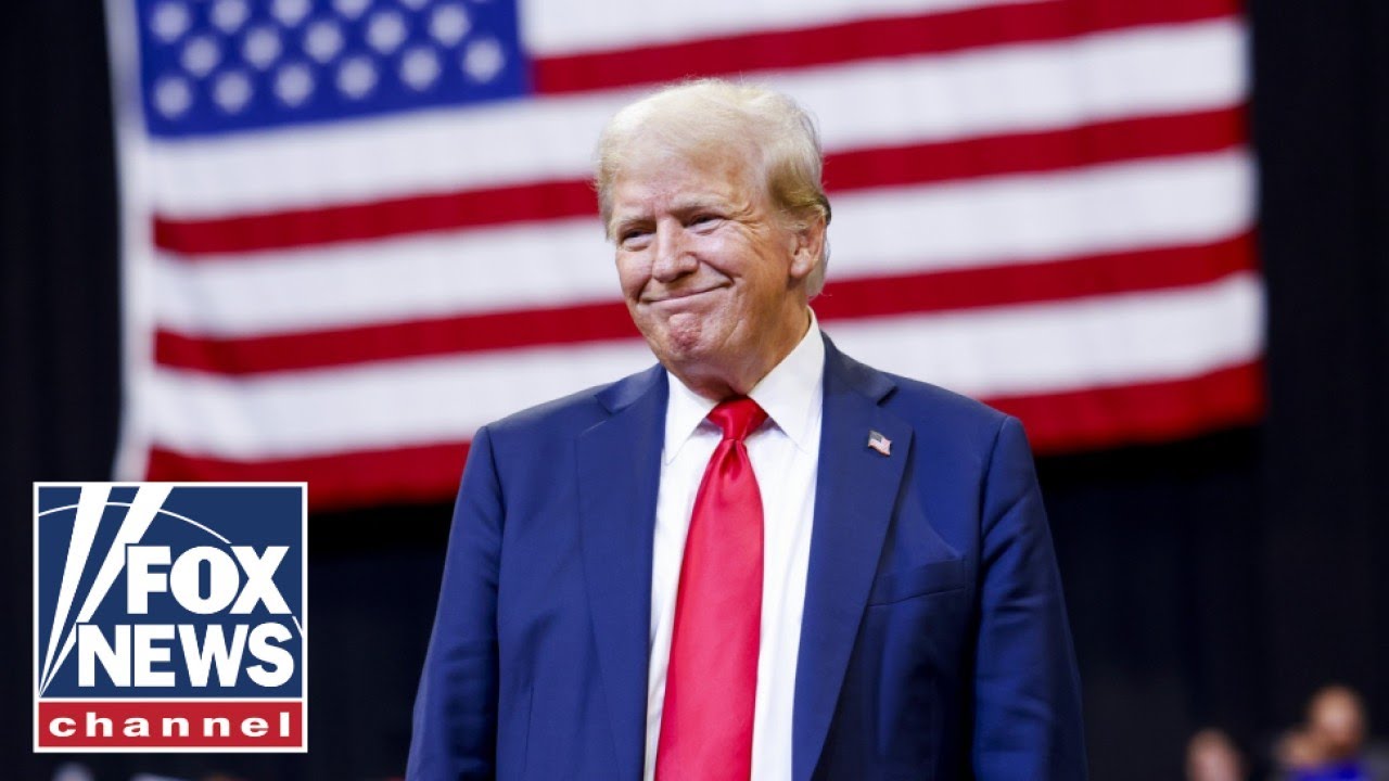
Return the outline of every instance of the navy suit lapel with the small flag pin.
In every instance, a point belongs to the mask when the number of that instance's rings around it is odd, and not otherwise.
[[[825,339],[825,402],[815,520],[801,617],[792,724],[792,778],[808,781],[872,586],[911,449],[911,428],[878,403],[895,385]],[[871,431],[890,454],[868,446]]]

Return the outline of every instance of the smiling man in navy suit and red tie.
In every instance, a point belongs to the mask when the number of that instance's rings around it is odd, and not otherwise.
[[[599,157],[660,365],[478,432],[408,778],[1085,778],[1022,429],[820,334],[810,120],[693,82]]]

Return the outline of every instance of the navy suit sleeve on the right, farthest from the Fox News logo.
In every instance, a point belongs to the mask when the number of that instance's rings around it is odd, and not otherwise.
[[[983,484],[974,681],[981,781],[1083,781],[1079,675],[1022,425],[1006,418]]]

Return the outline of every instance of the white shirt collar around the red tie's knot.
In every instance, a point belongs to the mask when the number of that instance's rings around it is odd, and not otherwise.
[[[665,372],[669,381],[669,400],[665,407],[665,450],[668,464],[694,434],[717,402],[690,390],[678,377]],[[749,396],[767,417],[801,450],[810,452],[815,418],[824,397],[825,342],[820,336],[820,321],[810,313],[810,328],[800,343],[775,368],[767,372]]]

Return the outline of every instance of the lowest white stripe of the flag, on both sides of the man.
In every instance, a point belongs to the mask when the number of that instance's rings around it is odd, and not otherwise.
[[[1060,304],[826,325],[850,354],[975,395],[1042,393],[1195,375],[1253,360],[1261,286],[1203,286]],[[154,441],[275,459],[467,439],[482,424],[653,361],[640,340],[385,361],[254,379],[158,370]],[[556,367],[564,371],[557,374]]]

